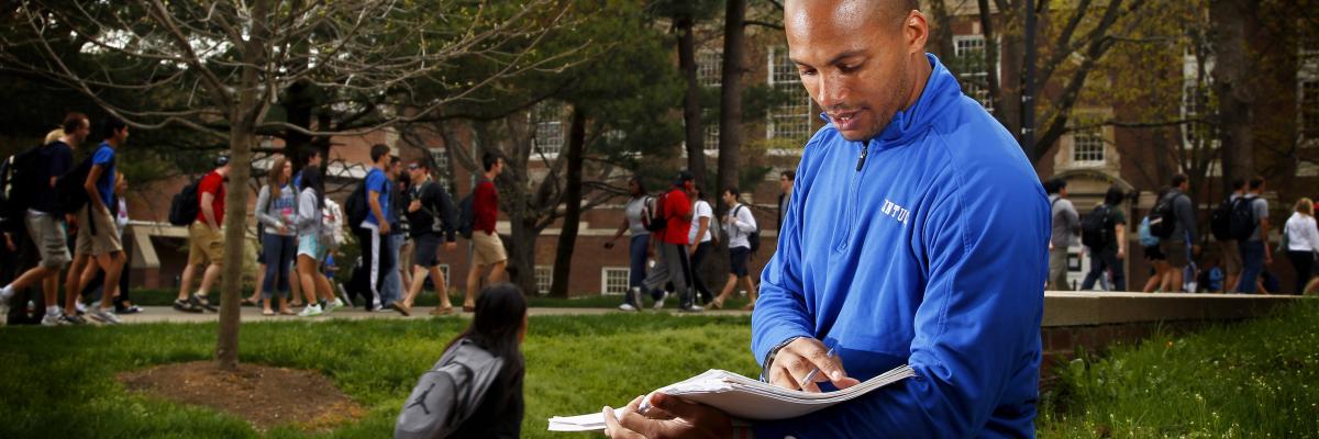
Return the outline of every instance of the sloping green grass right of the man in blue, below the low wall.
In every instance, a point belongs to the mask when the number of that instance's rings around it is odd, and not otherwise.
[[[1319,302],[1058,368],[1049,438],[1319,436]]]

